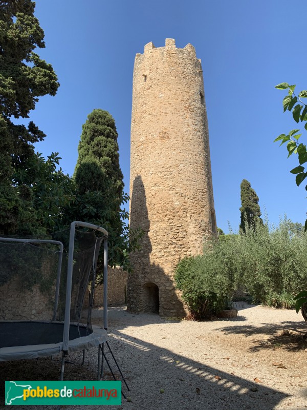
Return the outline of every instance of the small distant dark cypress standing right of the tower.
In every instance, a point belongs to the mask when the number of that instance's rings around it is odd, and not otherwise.
[[[241,223],[240,230],[246,233],[246,224],[249,228],[254,228],[256,221],[262,223],[260,218],[261,212],[258,204],[259,198],[256,192],[251,187],[250,182],[247,179],[243,179],[240,185],[241,189]]]

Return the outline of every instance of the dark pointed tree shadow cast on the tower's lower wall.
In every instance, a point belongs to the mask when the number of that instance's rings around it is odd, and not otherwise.
[[[145,187],[140,175],[133,182],[130,228],[141,228],[144,235],[140,240],[140,250],[130,254],[133,272],[128,275],[127,310],[131,313],[185,316],[183,303],[176,294],[172,278],[160,264],[151,262],[150,220]]]

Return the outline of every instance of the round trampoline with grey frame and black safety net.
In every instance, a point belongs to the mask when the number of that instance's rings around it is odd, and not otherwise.
[[[0,361],[62,353],[63,380],[69,353],[83,351],[84,361],[84,351],[98,346],[98,379],[102,379],[103,345],[107,343],[107,235],[106,230],[91,223],[72,222],[67,235],[68,254],[63,253],[60,240],[0,238]],[[92,326],[91,311],[102,242],[100,328]]]

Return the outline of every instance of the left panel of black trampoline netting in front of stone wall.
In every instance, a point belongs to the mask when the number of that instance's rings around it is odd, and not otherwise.
[[[59,246],[0,241],[0,320],[52,320]]]

